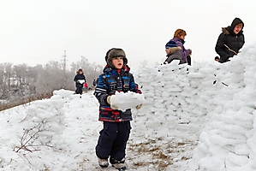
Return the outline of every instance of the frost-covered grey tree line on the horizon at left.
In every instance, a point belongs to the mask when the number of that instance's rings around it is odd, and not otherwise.
[[[34,67],[25,63],[0,63],[0,104],[2,107],[17,102],[21,104],[35,97],[48,97],[59,89],[74,91],[74,75],[79,68],[83,69],[88,86],[92,86],[92,81],[103,69],[101,65],[89,62],[85,56],[73,62],[68,69],[63,68],[63,62],[55,61]]]

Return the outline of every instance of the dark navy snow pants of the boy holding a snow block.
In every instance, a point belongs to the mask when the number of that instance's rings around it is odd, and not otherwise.
[[[96,155],[101,159],[110,156],[110,163],[121,162],[125,157],[126,144],[131,130],[130,121],[104,121],[104,128],[99,132]]]

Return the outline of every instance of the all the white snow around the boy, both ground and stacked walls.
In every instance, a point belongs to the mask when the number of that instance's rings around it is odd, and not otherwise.
[[[256,42],[224,64],[171,62],[135,73],[145,101],[133,109],[128,170],[256,170],[255,62]],[[51,147],[16,152],[23,129],[39,123],[49,129],[34,143]],[[98,167],[102,123],[92,92],[54,91],[4,110],[0,127],[0,170],[115,170]]]

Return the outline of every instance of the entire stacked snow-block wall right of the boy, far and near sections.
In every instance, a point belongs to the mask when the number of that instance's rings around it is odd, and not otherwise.
[[[172,136],[171,125],[200,133],[192,170],[256,169],[256,44],[247,44],[231,62],[172,62],[142,68],[136,80],[145,105],[135,118],[147,136]],[[143,117],[146,115],[146,120]],[[209,122],[208,122],[209,121]],[[167,127],[166,132],[161,132]],[[149,131],[152,130],[152,131]],[[142,132],[141,132],[142,134]]]

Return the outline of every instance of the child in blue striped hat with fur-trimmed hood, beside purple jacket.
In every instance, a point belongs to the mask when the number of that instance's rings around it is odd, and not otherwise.
[[[182,48],[180,46],[177,46],[176,42],[169,41],[167,44],[165,44],[165,51],[167,54],[167,59],[165,60],[164,64],[170,63],[173,60],[179,60],[180,63],[184,63],[182,60]]]

